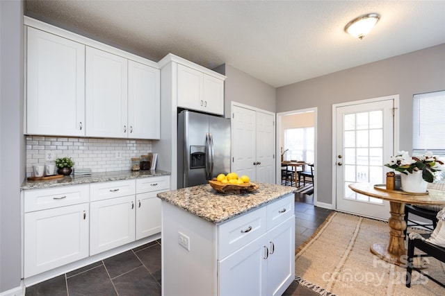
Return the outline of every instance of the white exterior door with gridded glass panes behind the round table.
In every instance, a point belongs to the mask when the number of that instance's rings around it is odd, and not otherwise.
[[[389,202],[355,193],[355,182],[385,184],[383,166],[394,153],[396,97],[334,106],[336,209],[371,218],[389,218]]]

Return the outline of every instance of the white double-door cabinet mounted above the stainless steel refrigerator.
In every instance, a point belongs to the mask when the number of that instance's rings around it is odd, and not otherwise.
[[[224,114],[224,80],[178,64],[177,105]]]

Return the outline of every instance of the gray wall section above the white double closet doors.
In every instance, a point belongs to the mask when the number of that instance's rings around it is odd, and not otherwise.
[[[213,70],[227,76],[224,84],[224,113],[226,117],[229,117],[232,101],[275,112],[275,87],[229,64],[223,64]]]

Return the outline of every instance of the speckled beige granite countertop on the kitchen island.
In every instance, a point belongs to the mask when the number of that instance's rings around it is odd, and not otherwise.
[[[296,191],[291,186],[257,184],[257,191],[239,195],[218,193],[209,184],[204,184],[158,193],[157,196],[191,214],[218,224]]]

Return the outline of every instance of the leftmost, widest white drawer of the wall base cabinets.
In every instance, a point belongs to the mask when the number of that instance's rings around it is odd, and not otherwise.
[[[35,189],[24,192],[24,211],[39,211],[89,202],[89,186],[63,186],[51,189]]]

